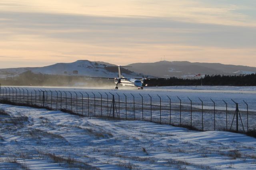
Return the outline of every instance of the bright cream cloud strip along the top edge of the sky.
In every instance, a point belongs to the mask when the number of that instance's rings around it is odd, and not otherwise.
[[[160,17],[186,22],[256,26],[254,0],[2,0],[12,12],[43,12],[90,16]],[[246,11],[251,12],[246,12]],[[253,12],[254,11],[254,12]],[[254,16],[254,17],[253,17]]]

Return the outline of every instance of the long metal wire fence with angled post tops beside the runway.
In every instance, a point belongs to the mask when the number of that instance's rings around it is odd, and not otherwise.
[[[115,117],[190,127],[197,130],[248,132],[256,129],[256,107],[251,103],[181,99],[152,94],[51,91],[0,87],[0,102],[45,107],[88,117]]]

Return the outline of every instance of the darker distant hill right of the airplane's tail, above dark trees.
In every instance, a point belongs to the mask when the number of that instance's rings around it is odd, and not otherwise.
[[[256,67],[225,65],[220,63],[191,63],[188,61],[158,61],[155,63],[133,63],[131,71],[156,77],[194,77],[202,75],[240,75],[256,73]]]

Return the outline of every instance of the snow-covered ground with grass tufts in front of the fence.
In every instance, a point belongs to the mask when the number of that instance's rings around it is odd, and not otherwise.
[[[0,105],[1,169],[256,169],[256,138]]]

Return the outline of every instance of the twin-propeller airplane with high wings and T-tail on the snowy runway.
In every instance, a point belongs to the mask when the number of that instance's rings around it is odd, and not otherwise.
[[[150,77],[150,78],[125,78],[122,76],[121,68],[122,67],[131,67],[131,66],[106,66],[106,67],[118,67],[118,77],[91,77],[91,78],[100,78],[100,79],[114,79],[116,83],[116,89],[118,89],[118,84],[123,86],[135,86],[138,87],[138,90],[143,90],[143,83],[146,79],[167,79],[167,77]]]

